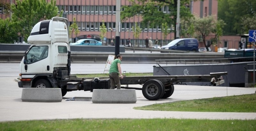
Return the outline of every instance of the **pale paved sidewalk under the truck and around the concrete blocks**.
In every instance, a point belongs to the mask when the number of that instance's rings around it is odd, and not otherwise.
[[[0,88],[0,121],[75,118],[256,119],[256,113],[145,111],[133,109],[133,107],[179,100],[252,94],[255,93],[256,88],[175,85],[174,93],[170,98],[156,101],[145,99],[141,90],[136,90],[137,102],[133,104],[96,104],[92,103],[92,101],[65,101],[73,97],[92,97],[92,93],[89,91],[72,91],[63,97],[62,102],[47,103],[22,102],[22,88],[18,87],[14,79],[15,77],[0,79],[0,82],[3,83]],[[141,87],[140,85],[135,86]]]

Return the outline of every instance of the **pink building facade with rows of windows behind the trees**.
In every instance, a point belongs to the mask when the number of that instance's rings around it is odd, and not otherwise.
[[[9,3],[16,3],[15,0],[4,0]],[[50,2],[51,0],[47,0]],[[121,0],[121,7],[124,5],[131,5],[131,3],[128,0]],[[93,38],[93,39],[99,39],[100,34],[100,26],[103,24],[102,20],[104,20],[104,25],[107,28],[107,35],[106,38],[104,38],[103,45],[110,45],[110,42],[112,39],[115,38],[116,34],[116,0],[56,0],[56,6],[59,9],[59,12],[61,10],[64,11],[63,17],[66,17],[69,21],[69,24],[71,25],[73,22],[73,18],[76,18],[76,22],[78,25],[78,29],[80,30],[80,33],[77,35],[77,37],[72,34],[72,39],[70,39],[72,42],[76,41],[77,39],[81,38]],[[208,15],[214,15],[217,18],[217,12],[218,12],[218,1],[217,0],[204,0],[204,1],[196,1],[194,2],[191,0],[190,5],[187,6],[190,8],[191,12],[194,15],[204,17]],[[5,19],[6,16],[4,14],[4,8],[0,7],[0,17],[2,19]],[[168,13],[168,6],[165,6],[161,9],[164,13]],[[125,21],[121,21],[121,31],[120,31],[120,44],[125,45],[128,38],[131,39],[131,43],[135,46],[143,47],[145,46],[145,38],[152,38],[153,42],[155,42],[156,39],[158,39],[158,45],[166,45],[170,41],[172,41],[175,36],[174,33],[169,33],[167,35],[166,40],[163,40],[163,34],[161,31],[161,27],[156,26],[154,28],[148,28],[148,27],[140,27],[142,29],[139,39],[135,43],[135,39],[133,36],[132,26],[137,23],[140,25],[140,21],[142,18],[140,16],[134,16],[131,18],[128,18]],[[170,27],[169,30],[174,30],[174,26]],[[230,37],[228,37],[230,38]],[[238,37],[239,38],[239,37]],[[234,45],[239,45],[239,41],[237,43],[236,41],[232,41],[232,39],[226,39],[225,37],[221,40],[223,42],[226,42],[229,46],[230,40],[232,47],[235,47]],[[200,41],[200,40],[199,40]],[[210,42],[210,37],[208,37],[207,43]],[[224,47],[225,44],[223,44],[222,47]],[[204,45],[201,43],[199,47],[204,47]],[[221,46],[220,46],[221,47]]]

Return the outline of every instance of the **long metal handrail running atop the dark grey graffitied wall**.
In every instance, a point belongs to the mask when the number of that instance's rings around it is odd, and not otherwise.
[[[185,61],[185,65],[187,64],[187,61],[194,61],[194,64],[196,64],[196,61],[198,60],[199,63],[202,63],[204,64],[205,62],[204,61],[211,61],[210,64],[212,64],[212,60],[214,61],[218,61],[218,63],[224,63],[224,62],[221,62],[221,61],[226,61],[225,63],[228,63],[228,61],[230,60],[240,60],[240,59],[252,59],[253,57],[238,57],[238,58],[220,58],[220,59],[156,59],[156,65],[158,64],[158,62],[161,62],[161,61],[166,61],[166,65],[168,64],[168,62],[171,62],[171,61],[175,61],[176,65],[177,65],[177,61]],[[200,62],[202,61],[202,62]]]

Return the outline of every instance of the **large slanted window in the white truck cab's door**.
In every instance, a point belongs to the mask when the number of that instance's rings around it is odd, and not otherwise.
[[[48,57],[48,46],[33,46],[27,53],[27,64],[35,63]]]

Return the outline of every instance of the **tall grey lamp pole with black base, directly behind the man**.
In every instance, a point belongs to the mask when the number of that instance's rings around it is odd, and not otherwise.
[[[115,55],[117,56],[120,53],[120,12],[121,12],[121,0],[116,0],[116,43],[115,43]]]

